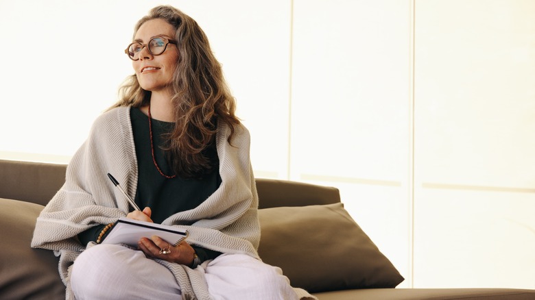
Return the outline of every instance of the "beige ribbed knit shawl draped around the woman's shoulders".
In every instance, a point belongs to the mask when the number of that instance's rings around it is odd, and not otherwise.
[[[73,299],[70,268],[84,251],[76,236],[95,224],[113,223],[129,211],[128,201],[107,173],[132,198],[136,195],[138,170],[129,110],[115,108],[97,118],[88,139],[67,167],[64,186],[37,218],[32,247],[60,255],[59,270],[67,286],[67,299]],[[221,186],[197,208],[169,216],[163,224],[187,229],[191,244],[259,259],[258,195],[249,158],[249,132],[243,126],[237,127],[229,145],[230,128],[219,124],[216,143]],[[90,243],[88,247],[91,246]],[[157,261],[174,273],[183,299],[211,299],[201,272]],[[296,292],[309,297],[303,290]]]

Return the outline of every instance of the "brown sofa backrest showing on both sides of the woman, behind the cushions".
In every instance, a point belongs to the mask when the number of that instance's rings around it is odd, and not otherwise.
[[[65,164],[0,160],[0,198],[46,205],[65,182]],[[337,188],[257,178],[259,208],[340,202]]]

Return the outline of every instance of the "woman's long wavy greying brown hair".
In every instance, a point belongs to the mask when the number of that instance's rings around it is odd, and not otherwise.
[[[175,127],[168,136],[169,146],[164,150],[177,175],[199,177],[213,168],[206,150],[215,143],[217,123],[226,123],[230,127],[228,142],[235,133],[235,126],[240,123],[235,116],[235,99],[206,34],[187,14],[169,5],[157,6],[136,23],[134,36],[143,23],[155,18],[174,26],[179,53],[171,83]],[[134,74],[119,88],[119,101],[112,108],[126,105],[139,108],[149,102],[150,91],[141,88]]]

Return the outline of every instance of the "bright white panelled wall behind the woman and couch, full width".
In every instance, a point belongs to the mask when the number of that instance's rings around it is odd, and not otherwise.
[[[224,65],[257,177],[340,188],[401,287],[535,288],[535,1],[168,3]],[[0,0],[0,159],[68,162],[157,4]]]

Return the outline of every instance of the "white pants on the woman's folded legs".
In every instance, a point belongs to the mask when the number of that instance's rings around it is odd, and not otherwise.
[[[200,267],[199,267],[200,268]],[[244,254],[224,254],[204,269],[213,299],[297,299],[280,268]],[[174,275],[145,254],[120,245],[82,252],[71,271],[76,299],[182,299]]]

